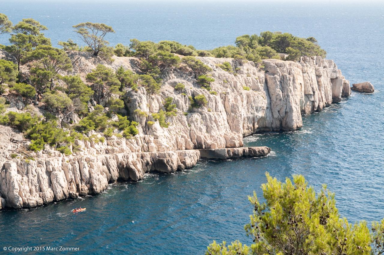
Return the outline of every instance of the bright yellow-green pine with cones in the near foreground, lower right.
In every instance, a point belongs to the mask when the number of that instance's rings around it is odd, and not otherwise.
[[[248,197],[253,206],[250,223],[244,229],[253,243],[238,241],[232,246],[213,242],[205,254],[356,254],[384,252],[384,220],[372,223],[369,233],[365,221],[350,224],[341,218],[334,194],[325,185],[316,196],[301,175],[282,183],[266,173],[262,185],[265,202],[256,193]]]

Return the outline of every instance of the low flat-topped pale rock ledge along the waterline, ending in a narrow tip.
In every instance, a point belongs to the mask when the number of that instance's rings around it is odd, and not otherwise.
[[[262,157],[268,147],[131,152],[0,162],[0,209],[31,208],[103,192],[115,181],[139,181],[145,173],[172,173],[204,159]]]

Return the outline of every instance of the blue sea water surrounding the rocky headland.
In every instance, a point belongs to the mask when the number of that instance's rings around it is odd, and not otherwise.
[[[353,95],[303,117],[295,132],[246,137],[272,148],[268,157],[203,161],[174,174],[115,183],[96,196],[33,209],[0,211],[2,246],[79,247],[83,254],[202,254],[212,240],[239,239],[265,172],[279,180],[302,174],[336,193],[350,222],[384,217],[384,4],[323,2],[0,1],[13,23],[32,17],[53,43],[75,39],[71,26],[107,23],[112,45],[129,39],[176,40],[198,49],[232,44],[242,34],[284,31],[314,36],[347,79],[371,81],[374,94]],[[7,35],[0,36],[7,43]],[[73,214],[74,207],[86,207]]]

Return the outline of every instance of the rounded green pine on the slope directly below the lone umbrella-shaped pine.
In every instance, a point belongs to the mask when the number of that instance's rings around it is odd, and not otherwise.
[[[118,92],[121,85],[115,72],[100,64],[86,75],[86,80],[92,83],[91,88],[98,103],[101,99],[108,98],[112,93]]]

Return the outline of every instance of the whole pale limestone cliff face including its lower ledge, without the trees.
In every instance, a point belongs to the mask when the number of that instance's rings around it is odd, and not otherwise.
[[[100,63],[86,52],[70,52],[73,74],[84,78]],[[136,70],[137,59],[114,57],[114,62],[102,62],[113,69],[123,66]],[[12,160],[10,153],[18,145],[9,141],[9,132],[2,137],[0,158],[0,208],[32,207],[51,201],[99,193],[116,180],[141,180],[151,171],[174,172],[193,167],[197,160],[210,155],[210,150],[243,146],[243,137],[262,131],[293,131],[302,124],[301,114],[321,111],[342,96],[350,95],[348,80],[332,60],[303,57],[300,62],[268,59],[262,67],[253,62],[240,65],[234,59],[200,57],[212,69],[212,90],[200,88],[186,67],[169,72],[158,95],[148,95],[144,88],[128,90],[124,101],[132,119],[139,122],[139,134],[132,139],[107,137],[104,142],[77,141],[81,148],[65,157],[46,149],[35,160]],[[230,62],[236,72],[226,72],[218,64]],[[183,83],[185,90],[174,87]],[[244,89],[250,88],[250,90]],[[204,94],[207,105],[189,110],[188,96]],[[176,116],[167,118],[168,128],[153,121],[151,113],[162,109],[171,96],[177,105]],[[18,109],[17,109],[18,108]],[[20,102],[11,103],[10,110],[22,111]],[[134,113],[140,109],[149,114]],[[76,116],[73,117],[76,122]],[[1,126],[1,128],[5,128]],[[8,128],[8,127],[7,127]],[[9,129],[9,128],[8,128]],[[14,133],[14,137],[20,134]],[[225,153],[224,153],[225,152]],[[215,155],[265,155],[248,150],[215,152]],[[269,152],[269,151],[268,151]],[[250,154],[249,154],[250,153]]]

